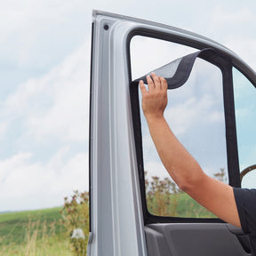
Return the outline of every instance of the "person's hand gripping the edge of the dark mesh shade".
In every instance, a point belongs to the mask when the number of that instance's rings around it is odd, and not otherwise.
[[[164,109],[167,105],[167,82],[164,77],[151,74],[147,76],[148,90],[140,80],[140,91],[142,94],[142,109],[147,120],[155,120],[164,116]]]

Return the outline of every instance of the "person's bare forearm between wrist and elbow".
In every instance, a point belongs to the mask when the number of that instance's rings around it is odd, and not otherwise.
[[[205,175],[201,167],[172,133],[164,116],[159,118],[146,116],[146,118],[158,155],[172,180],[182,190],[193,189]]]

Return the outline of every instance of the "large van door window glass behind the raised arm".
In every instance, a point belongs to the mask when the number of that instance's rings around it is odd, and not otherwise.
[[[196,49],[184,45],[136,37],[131,44],[132,79],[196,52]],[[168,90],[164,116],[172,132],[196,157],[204,172],[228,182],[222,95],[220,69],[197,59],[187,83],[178,89]],[[140,120],[148,212],[159,216],[213,217],[211,212],[180,191],[164,169],[148,132],[141,102]]]

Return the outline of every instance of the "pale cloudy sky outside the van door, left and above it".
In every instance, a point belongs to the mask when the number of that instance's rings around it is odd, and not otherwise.
[[[88,190],[93,9],[196,32],[256,69],[253,0],[1,0],[0,212]]]

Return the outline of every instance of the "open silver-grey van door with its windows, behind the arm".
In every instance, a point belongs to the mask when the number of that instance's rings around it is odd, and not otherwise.
[[[256,184],[252,68],[204,36],[94,11],[88,256],[250,255],[240,228],[164,170],[140,104],[138,81],[152,70],[168,82],[172,131],[204,172],[239,188],[247,170],[242,186]]]

